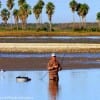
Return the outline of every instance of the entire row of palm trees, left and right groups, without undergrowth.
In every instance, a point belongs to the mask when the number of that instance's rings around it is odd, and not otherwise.
[[[41,23],[41,16],[42,16],[42,10],[45,6],[46,8],[46,14],[48,16],[49,20],[49,26],[50,31],[52,30],[52,16],[55,11],[55,5],[52,2],[48,2],[45,5],[45,2],[43,0],[38,0],[38,2],[31,7],[27,0],[18,0],[18,8],[13,9],[15,5],[15,0],[7,0],[6,6],[7,8],[3,8],[1,10],[1,18],[4,22],[4,24],[7,24],[7,21],[9,18],[11,18],[11,28],[12,28],[12,17],[14,17],[16,28],[18,29],[18,23],[21,21],[22,29],[26,28],[27,19],[28,16],[31,14],[35,15],[35,18],[37,20],[37,29],[39,28],[39,25]],[[78,3],[75,0],[71,0],[69,2],[69,6],[73,12],[73,28],[75,27],[75,12],[77,12],[79,18],[80,18],[80,28],[85,28],[86,26],[86,15],[89,12],[89,6],[86,3]],[[2,7],[2,2],[0,2],[0,8]],[[97,13],[97,20],[99,22],[100,27],[100,12]]]

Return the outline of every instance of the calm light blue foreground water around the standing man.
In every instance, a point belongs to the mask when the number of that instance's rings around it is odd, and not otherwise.
[[[46,71],[0,73],[0,100],[100,100],[100,69],[63,70],[59,84],[50,83]],[[27,83],[16,76],[28,76]]]

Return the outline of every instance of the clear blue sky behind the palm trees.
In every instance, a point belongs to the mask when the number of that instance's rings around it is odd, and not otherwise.
[[[15,7],[18,8],[17,1],[15,0]],[[27,3],[33,6],[37,3],[38,0],[26,0]],[[68,23],[73,21],[72,17],[72,11],[69,7],[69,2],[71,0],[44,0],[45,4],[48,2],[53,2],[55,5],[55,12],[52,17],[52,22],[53,23]],[[96,14],[97,12],[100,11],[100,0],[76,0],[79,3],[87,3],[90,7],[88,15],[86,16],[86,21],[87,22],[96,22]],[[6,0],[1,0],[2,2],[2,8],[6,7]],[[42,22],[48,22],[48,16],[45,13],[46,9],[45,7],[43,8],[43,13],[42,13]],[[76,22],[79,22],[79,16],[77,13],[75,14],[75,20]],[[14,22],[14,20],[12,20]],[[35,16],[32,14],[29,16],[28,20],[29,23],[35,23],[36,19]],[[10,19],[9,19],[10,22]]]

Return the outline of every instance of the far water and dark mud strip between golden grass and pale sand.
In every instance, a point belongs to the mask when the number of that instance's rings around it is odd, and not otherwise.
[[[0,43],[100,43],[100,36],[0,37]]]

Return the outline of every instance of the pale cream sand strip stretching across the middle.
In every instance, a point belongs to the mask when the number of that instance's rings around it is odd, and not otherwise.
[[[100,44],[0,43],[0,52],[100,52]]]

